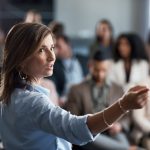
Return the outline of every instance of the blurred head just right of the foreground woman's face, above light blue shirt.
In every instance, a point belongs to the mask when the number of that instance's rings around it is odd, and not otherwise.
[[[66,35],[59,35],[56,37],[56,56],[60,59],[72,57],[70,40]]]

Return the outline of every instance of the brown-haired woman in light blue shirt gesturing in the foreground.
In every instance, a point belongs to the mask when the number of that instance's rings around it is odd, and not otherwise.
[[[93,141],[128,110],[147,102],[149,89],[135,86],[101,112],[71,115],[51,103],[50,93],[39,85],[53,74],[54,51],[45,25],[19,23],[7,34],[0,88],[0,133],[6,150],[71,150],[71,143]]]

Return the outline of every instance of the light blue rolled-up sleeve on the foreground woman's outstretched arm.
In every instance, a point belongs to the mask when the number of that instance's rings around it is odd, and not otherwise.
[[[30,115],[34,123],[47,133],[77,145],[84,145],[96,138],[87,126],[88,115],[72,115],[70,112],[54,106],[44,96],[33,100],[31,106]]]

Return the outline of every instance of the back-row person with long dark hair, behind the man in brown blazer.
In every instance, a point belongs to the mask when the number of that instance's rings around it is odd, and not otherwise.
[[[103,19],[99,21],[96,25],[96,37],[93,44],[90,47],[90,53],[94,53],[95,47],[100,46],[107,53],[112,54],[113,49],[113,27],[111,23]]]

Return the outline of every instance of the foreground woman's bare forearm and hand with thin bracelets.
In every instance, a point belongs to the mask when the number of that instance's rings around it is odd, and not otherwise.
[[[131,88],[122,98],[104,111],[90,115],[87,125],[96,134],[118,120],[125,111],[142,108],[148,99],[149,89],[144,86]]]

